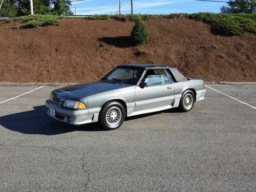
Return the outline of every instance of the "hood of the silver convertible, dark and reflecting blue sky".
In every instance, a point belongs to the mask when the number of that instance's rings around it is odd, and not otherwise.
[[[63,87],[52,91],[54,98],[58,101],[66,99],[81,99],[90,95],[95,95],[105,91],[112,91],[124,87],[130,87],[129,84],[106,83],[106,82],[90,82],[83,84],[75,84],[73,86]]]

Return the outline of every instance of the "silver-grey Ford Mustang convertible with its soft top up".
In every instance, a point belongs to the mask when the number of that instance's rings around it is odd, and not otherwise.
[[[117,129],[125,117],[170,108],[182,112],[204,99],[204,81],[184,77],[174,66],[118,66],[97,82],[54,90],[46,101],[52,118],[80,125],[99,122]]]

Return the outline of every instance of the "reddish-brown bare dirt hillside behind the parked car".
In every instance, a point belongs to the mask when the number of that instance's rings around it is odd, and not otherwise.
[[[205,81],[256,81],[256,39],[221,36],[196,20],[147,20],[148,44],[133,47],[133,22],[61,19],[60,26],[0,24],[0,81],[85,82],[124,63],[175,65]]]

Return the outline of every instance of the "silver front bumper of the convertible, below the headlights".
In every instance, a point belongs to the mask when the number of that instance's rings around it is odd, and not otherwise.
[[[55,109],[55,116],[50,114],[49,108]],[[52,103],[50,100],[46,100],[46,109],[47,114],[59,121],[66,122],[74,125],[81,125],[91,122],[98,121],[98,115],[100,112],[100,108],[97,109],[85,109],[85,110],[72,110],[62,108],[62,106],[58,106]]]

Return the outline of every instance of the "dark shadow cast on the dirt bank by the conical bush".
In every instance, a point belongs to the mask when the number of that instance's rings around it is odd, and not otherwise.
[[[102,38],[99,38],[99,40],[102,42],[105,42],[105,44],[112,45],[119,48],[134,47],[134,45],[132,44],[131,36],[102,37]]]

